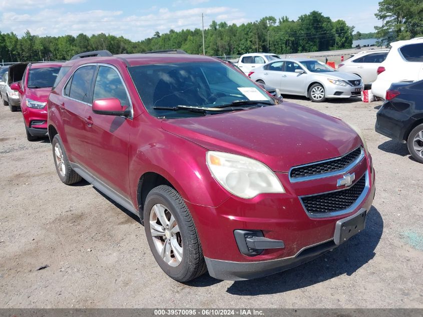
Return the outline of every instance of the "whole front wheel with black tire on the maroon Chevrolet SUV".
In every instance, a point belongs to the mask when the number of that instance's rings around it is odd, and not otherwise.
[[[160,219],[166,224],[162,225]],[[175,189],[160,185],[148,193],[144,227],[156,262],[171,278],[187,282],[206,272],[197,229],[184,200]],[[163,255],[161,251],[164,251]]]

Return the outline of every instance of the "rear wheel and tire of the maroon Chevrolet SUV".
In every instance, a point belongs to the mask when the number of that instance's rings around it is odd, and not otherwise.
[[[81,181],[82,177],[72,169],[71,163],[69,163],[68,156],[66,155],[65,148],[63,147],[62,139],[59,134],[56,134],[53,138],[52,146],[56,172],[59,175],[60,180],[66,185],[71,185]]]

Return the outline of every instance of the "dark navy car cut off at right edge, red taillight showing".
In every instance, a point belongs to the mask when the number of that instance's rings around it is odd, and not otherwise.
[[[377,112],[376,132],[407,144],[411,156],[423,163],[423,80],[395,83],[386,91]]]

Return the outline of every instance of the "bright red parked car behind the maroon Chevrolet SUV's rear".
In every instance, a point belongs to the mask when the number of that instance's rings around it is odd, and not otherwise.
[[[62,63],[27,64],[24,72],[25,64],[21,63],[11,66],[9,73],[14,74],[14,80],[21,80],[11,84],[11,88],[18,91],[21,97],[27,139],[35,141],[47,135],[47,97]]]

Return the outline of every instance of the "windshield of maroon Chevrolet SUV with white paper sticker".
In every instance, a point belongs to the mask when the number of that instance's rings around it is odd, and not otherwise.
[[[182,118],[204,114],[170,111],[180,105],[216,108],[234,101],[266,101],[269,95],[245,75],[219,62],[174,63],[128,68],[147,111],[155,117]]]

